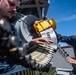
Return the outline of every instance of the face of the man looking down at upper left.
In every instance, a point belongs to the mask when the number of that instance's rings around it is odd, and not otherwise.
[[[12,18],[19,5],[20,0],[0,0],[0,15]]]

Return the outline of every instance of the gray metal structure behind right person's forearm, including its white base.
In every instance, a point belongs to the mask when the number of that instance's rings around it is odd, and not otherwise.
[[[69,56],[75,57],[73,48],[71,46],[62,46],[62,48],[69,54]],[[54,53],[52,62],[52,66],[56,67],[58,75],[70,75],[73,67],[59,52]]]

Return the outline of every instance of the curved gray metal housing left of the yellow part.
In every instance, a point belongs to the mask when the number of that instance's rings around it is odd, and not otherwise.
[[[16,24],[15,27],[17,29],[17,32],[20,35],[20,38],[24,42],[29,42],[33,38],[37,37],[36,32],[33,28],[33,23],[38,20],[38,18],[34,15],[26,15],[22,18],[20,18]]]

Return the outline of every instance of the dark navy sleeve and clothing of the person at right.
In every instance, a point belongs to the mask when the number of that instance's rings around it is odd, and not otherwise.
[[[75,58],[76,58],[76,35],[72,36],[62,36],[60,34],[57,34],[58,41],[59,42],[65,42],[73,47]],[[76,74],[76,67],[73,67],[74,74]]]

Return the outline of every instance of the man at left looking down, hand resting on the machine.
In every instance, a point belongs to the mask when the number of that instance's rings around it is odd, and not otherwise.
[[[0,0],[0,24],[2,24],[2,19],[5,18],[5,19],[10,19],[13,17],[14,13],[16,13],[17,11],[17,8],[20,6],[20,0]],[[3,34],[3,33],[1,33]],[[16,33],[16,29],[11,26],[11,32],[9,35],[18,35]],[[2,37],[6,37],[6,35],[0,35],[0,40],[3,39]],[[19,37],[18,37],[19,38]],[[17,39],[18,39],[17,38]],[[10,38],[11,39],[11,38]],[[29,48],[31,47],[31,44],[32,42],[36,43],[36,44],[43,44],[43,42],[46,41],[46,42],[51,42],[50,40],[48,39],[44,39],[44,38],[36,38],[36,39],[33,39],[32,41],[30,41],[29,43],[25,44],[25,47]],[[8,44],[9,42],[7,42]],[[19,39],[19,43],[22,45],[22,41]],[[33,45],[33,44],[32,44]],[[1,45],[2,46],[2,45]],[[4,49],[5,45],[2,46],[1,48]],[[6,48],[8,49],[8,47],[6,46]],[[1,50],[1,49],[0,49]],[[3,52],[3,50],[2,50]],[[12,57],[11,55],[9,56],[10,58]],[[7,57],[8,58],[8,57]],[[12,59],[12,58],[11,58]],[[14,63],[14,59],[13,60],[13,63],[10,62],[10,60],[7,60],[5,58],[1,58],[0,57],[0,75],[11,75],[15,72],[19,72],[19,71],[22,71],[22,70],[26,70],[25,67],[22,67],[20,65],[17,65]],[[17,62],[19,63],[19,62]],[[25,62],[26,64],[26,62]],[[27,65],[28,66],[28,65]]]

